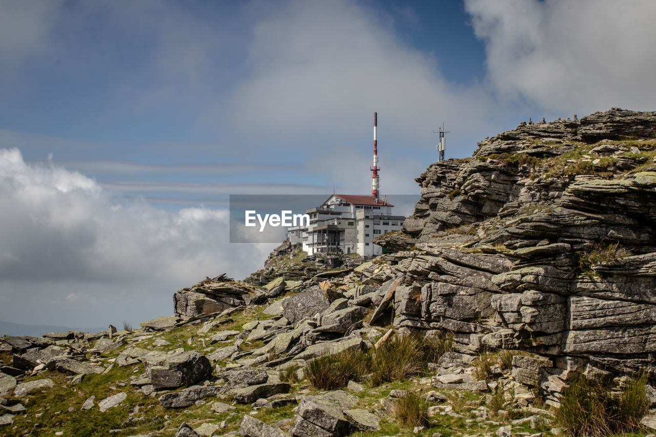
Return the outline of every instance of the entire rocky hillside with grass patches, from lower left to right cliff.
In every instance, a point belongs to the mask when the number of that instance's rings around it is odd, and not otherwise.
[[[607,434],[655,429],[656,113],[522,123],[416,180],[376,259],[285,242],[140,329],[3,337],[0,434],[584,435],[582,384],[635,406]]]

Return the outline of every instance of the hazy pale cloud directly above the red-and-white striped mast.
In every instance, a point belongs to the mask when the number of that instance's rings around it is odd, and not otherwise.
[[[374,111],[405,138],[430,138],[436,120],[462,132],[472,118],[487,117],[480,89],[447,83],[436,60],[405,44],[394,26],[352,1],[281,3],[253,26],[251,74],[225,115],[251,136],[312,134],[315,141],[361,132]]]

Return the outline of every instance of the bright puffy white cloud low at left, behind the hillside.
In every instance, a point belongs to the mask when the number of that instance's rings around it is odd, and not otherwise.
[[[0,320],[100,326],[173,311],[205,276],[261,267],[275,245],[229,246],[228,212],[112,203],[100,185],[0,150]]]

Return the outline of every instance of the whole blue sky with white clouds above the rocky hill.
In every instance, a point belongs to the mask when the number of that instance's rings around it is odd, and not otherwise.
[[[0,0],[0,320],[173,313],[230,194],[415,195],[521,121],[655,110],[656,2]],[[314,206],[314,205],[308,205]]]

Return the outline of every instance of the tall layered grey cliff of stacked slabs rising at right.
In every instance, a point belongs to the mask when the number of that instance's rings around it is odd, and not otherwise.
[[[398,251],[380,258],[403,277],[394,324],[449,329],[468,353],[529,350],[556,373],[655,370],[655,127],[617,108],[523,123],[430,165],[403,231],[376,241]],[[518,369],[535,382],[533,367]]]

